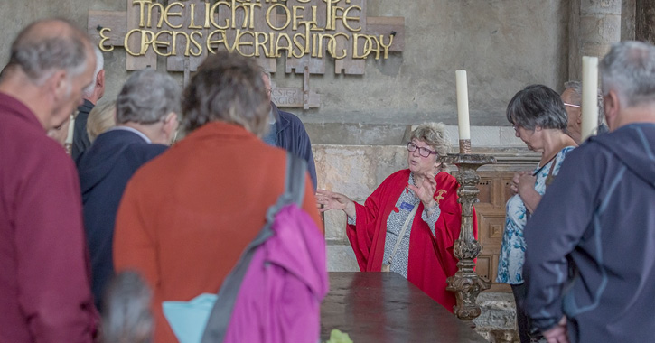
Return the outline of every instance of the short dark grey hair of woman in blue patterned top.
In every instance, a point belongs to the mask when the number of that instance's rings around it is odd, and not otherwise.
[[[544,85],[530,85],[514,95],[507,106],[507,120],[528,130],[539,126],[565,131],[568,125],[562,98]]]

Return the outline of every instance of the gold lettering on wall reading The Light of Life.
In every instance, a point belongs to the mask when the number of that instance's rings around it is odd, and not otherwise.
[[[295,5],[286,0],[220,0],[213,5],[210,1],[158,1],[131,1],[139,17],[138,26],[129,28],[124,37],[129,55],[144,56],[152,49],[159,56],[176,56],[183,51],[186,57],[197,57],[220,48],[267,58],[282,57],[283,52],[296,59],[323,58],[327,52],[336,60],[349,56],[379,60],[388,58],[394,42],[395,32],[362,32],[362,6],[351,5],[351,0],[296,0]],[[319,9],[324,11],[322,20]],[[112,51],[111,29],[98,30],[98,47]],[[130,37],[138,45],[128,46]]]

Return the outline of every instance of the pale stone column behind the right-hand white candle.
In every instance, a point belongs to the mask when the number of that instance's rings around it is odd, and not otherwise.
[[[621,41],[622,1],[573,0],[571,5],[568,78],[580,80],[583,56],[603,58]]]

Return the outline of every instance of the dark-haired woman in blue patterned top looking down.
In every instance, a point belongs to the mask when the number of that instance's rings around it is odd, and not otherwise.
[[[515,195],[507,201],[505,231],[498,261],[497,283],[509,283],[516,301],[519,338],[528,343],[529,320],[523,311],[525,284],[523,262],[529,249],[523,228],[535,212],[547,186],[559,167],[577,144],[566,134],[566,109],[559,94],[543,85],[528,86],[519,91],[507,106],[507,120],[514,126],[529,150],[541,152],[541,161],[532,172],[517,172],[511,184]]]

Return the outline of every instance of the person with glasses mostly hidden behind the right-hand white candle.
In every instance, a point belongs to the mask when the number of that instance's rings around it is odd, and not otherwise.
[[[582,142],[582,83],[580,81],[568,81],[564,84],[564,91],[560,96],[566,108],[568,125],[566,133],[573,138],[576,144]],[[603,95],[598,89],[598,134],[607,132],[607,126],[603,124]]]

